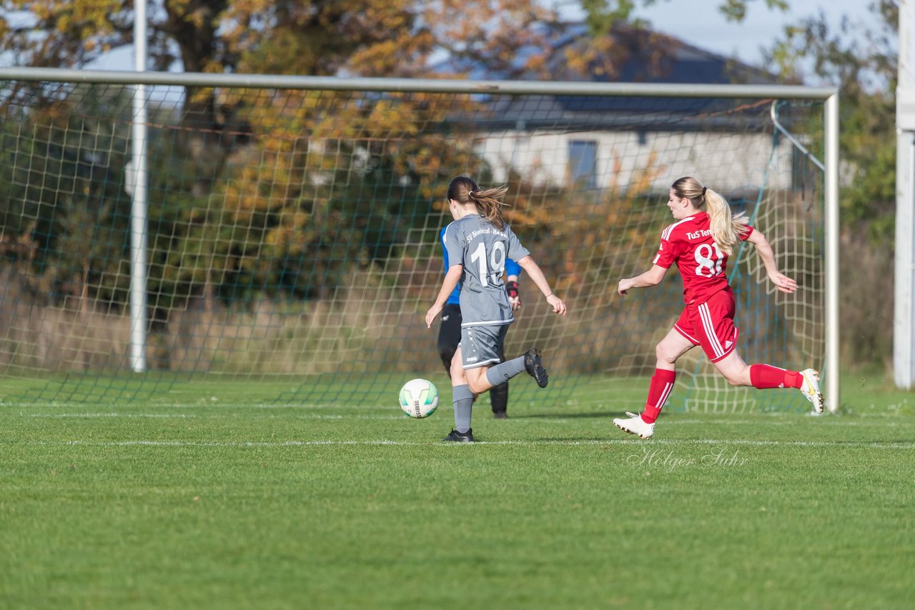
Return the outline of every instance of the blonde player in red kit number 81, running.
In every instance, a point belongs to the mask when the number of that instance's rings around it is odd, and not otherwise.
[[[737,326],[734,326],[734,294],[727,284],[727,258],[740,241],[756,246],[766,266],[770,282],[783,293],[793,293],[798,284],[779,273],[775,254],[766,237],[748,225],[747,216],[732,216],[727,201],[702,186],[693,177],[673,183],[667,207],[671,226],[663,230],[661,247],[651,269],[635,277],[619,280],[617,292],[625,295],[632,288],[659,284],[671,265],[684,280],[684,307],[680,319],[655,348],[657,365],[648,388],[648,400],[640,415],[627,412],[628,418],[613,423],[640,438],[654,433],[654,423],[673,389],[676,361],[695,346],[702,346],[725,379],[734,386],[754,388],[797,388],[813,403],[813,411],[823,412],[820,374],[814,369],[779,369],[768,364],[748,365],[737,355]]]

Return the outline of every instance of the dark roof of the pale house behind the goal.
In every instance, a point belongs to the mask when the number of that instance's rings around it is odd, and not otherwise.
[[[592,82],[647,82],[701,84],[774,84],[774,75],[695,47],[676,37],[631,26],[615,27],[610,33],[611,50],[587,56],[587,45],[593,40],[585,24],[562,24],[549,33],[552,51],[545,60],[544,71],[552,80],[587,80]],[[520,78],[540,80],[542,74],[522,70],[538,49],[522,48],[509,69],[489,70],[479,63],[449,61],[439,71],[467,73],[470,78],[498,80]],[[577,57],[578,61],[570,61]],[[587,61],[580,58],[590,57]],[[585,66],[584,69],[576,66]],[[741,122],[740,114],[729,112],[739,102],[711,98],[590,97],[582,95],[493,96],[486,104],[485,116],[475,123],[486,123],[492,129],[574,128],[590,125],[604,129],[664,130],[673,123],[679,129],[701,122],[705,129],[733,128]],[[768,107],[756,112],[768,112]],[[746,116],[744,116],[746,118]]]

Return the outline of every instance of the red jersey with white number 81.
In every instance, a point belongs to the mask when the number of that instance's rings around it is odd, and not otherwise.
[[[708,229],[710,219],[707,212],[697,212],[674,222],[661,234],[661,247],[654,257],[654,264],[664,269],[676,262],[677,270],[684,279],[684,302],[686,305],[705,303],[720,290],[730,289],[727,285],[727,253],[722,251],[712,231]],[[740,236],[746,241],[753,228]]]

